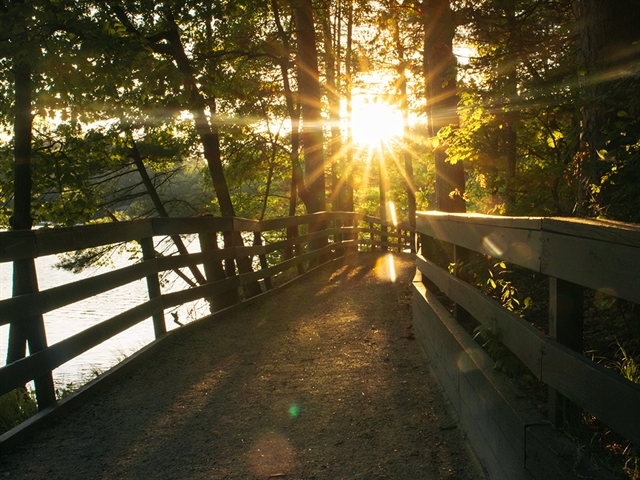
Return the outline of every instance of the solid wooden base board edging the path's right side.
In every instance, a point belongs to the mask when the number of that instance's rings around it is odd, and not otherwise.
[[[493,361],[433,293],[418,282],[413,287],[414,325],[427,324],[416,328],[416,337],[424,341],[428,335],[425,349],[432,368],[491,478],[529,478],[523,470],[525,427],[544,419],[503,374],[493,371]]]

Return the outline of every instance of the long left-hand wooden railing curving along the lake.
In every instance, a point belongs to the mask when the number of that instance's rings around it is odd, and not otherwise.
[[[242,234],[240,238],[245,239],[242,245],[220,248],[221,239],[231,238],[234,232]],[[158,237],[175,235],[198,235],[201,251],[157,257],[155,245]],[[270,243],[264,244],[265,237]],[[9,340],[14,344],[9,344],[8,350],[21,351],[23,356],[0,368],[0,395],[34,380],[39,408],[54,405],[52,370],[150,317],[153,318],[156,338],[162,337],[167,332],[166,309],[204,298],[210,301],[212,311],[219,310],[263,289],[272,288],[272,279],[287,270],[293,270],[294,275],[304,273],[311,266],[342,255],[349,249],[407,250],[411,248],[412,238],[408,227],[396,227],[375,217],[344,212],[323,212],[262,222],[220,217],[154,218],[1,232],[0,262],[14,262],[14,268],[27,272],[21,278],[32,278],[26,286],[18,289],[22,294],[0,301],[0,325],[9,324],[11,329],[15,329]],[[36,257],[121,242],[139,243],[142,261],[38,291],[34,268]],[[251,245],[245,246],[245,242]],[[279,252],[279,255],[273,255],[274,252]],[[275,263],[276,257],[281,261]],[[253,261],[254,258],[259,261]],[[161,292],[160,273],[199,266],[204,269],[207,283],[171,293]],[[54,345],[47,345],[43,314],[143,278],[148,284],[148,301]],[[29,343],[28,356],[24,356],[25,341]]]

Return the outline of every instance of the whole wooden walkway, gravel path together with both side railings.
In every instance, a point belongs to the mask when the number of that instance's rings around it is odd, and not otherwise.
[[[640,302],[640,229],[424,213],[412,233],[364,215],[321,213],[0,234],[0,261],[14,262],[22,279],[19,295],[0,302],[13,355],[0,369],[0,394],[33,380],[41,410],[0,437],[3,451],[28,439],[0,470],[33,478],[78,471],[86,478],[482,478],[424,374],[419,345],[489,478],[608,478],[579,462],[554,425],[576,408],[564,405],[577,405],[640,445],[640,387],[581,352],[584,288]],[[201,252],[156,255],[160,237],[180,235],[198,235]],[[35,257],[132,241],[144,261],[37,290]],[[546,332],[469,283],[460,266],[476,256],[550,278]],[[162,292],[158,275],[179,269],[191,270],[194,286]],[[44,313],[140,278],[147,302],[47,345]],[[403,316],[411,317],[409,292],[413,325]],[[199,298],[214,313],[167,333],[164,311]],[[53,369],[150,317],[152,344],[55,398]],[[469,322],[484,325],[548,386],[550,419],[495,371]],[[82,429],[84,422],[94,427]],[[52,459],[60,445],[65,460]]]

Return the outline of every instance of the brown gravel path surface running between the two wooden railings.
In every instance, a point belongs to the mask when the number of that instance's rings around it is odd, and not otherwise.
[[[413,340],[413,262],[393,258],[395,283],[360,254],[191,329],[0,476],[484,478]]]

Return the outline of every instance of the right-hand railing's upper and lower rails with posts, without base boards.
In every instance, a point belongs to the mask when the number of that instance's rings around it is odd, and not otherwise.
[[[640,303],[640,226],[611,221],[421,212],[416,233],[423,280],[461,311],[495,329],[499,340],[552,392],[640,445],[640,385],[582,355],[583,288]],[[436,265],[436,243],[458,263],[475,251],[550,278],[549,337]],[[432,288],[432,287],[431,287]],[[430,301],[434,301],[431,299]],[[553,399],[551,394],[550,400]],[[555,414],[550,405],[550,416]]]

